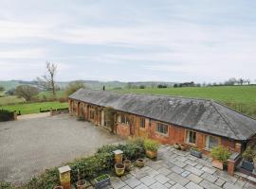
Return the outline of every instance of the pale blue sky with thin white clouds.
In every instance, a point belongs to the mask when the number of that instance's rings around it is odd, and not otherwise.
[[[0,0],[0,80],[256,79],[255,0]]]

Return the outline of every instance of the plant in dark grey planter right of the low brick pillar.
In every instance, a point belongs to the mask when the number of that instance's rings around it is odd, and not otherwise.
[[[243,156],[242,167],[247,171],[252,172],[254,169],[253,159],[256,156],[255,151],[251,148],[251,146],[248,146],[242,156]]]

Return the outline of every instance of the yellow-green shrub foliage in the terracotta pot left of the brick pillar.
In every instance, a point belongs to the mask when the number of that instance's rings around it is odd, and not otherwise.
[[[224,146],[213,147],[210,152],[211,152],[212,158],[224,164],[228,163],[229,156],[231,155],[231,152],[229,151],[229,149]]]

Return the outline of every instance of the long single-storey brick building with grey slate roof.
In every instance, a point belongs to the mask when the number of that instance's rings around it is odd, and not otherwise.
[[[70,114],[106,128],[105,107],[115,109],[114,132],[125,137],[197,146],[205,153],[219,145],[241,153],[256,138],[255,119],[212,100],[88,89],[69,96]]]

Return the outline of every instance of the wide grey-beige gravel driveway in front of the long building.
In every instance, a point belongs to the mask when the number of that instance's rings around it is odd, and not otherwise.
[[[117,135],[67,114],[0,123],[0,180],[27,181],[46,168],[89,155]]]

